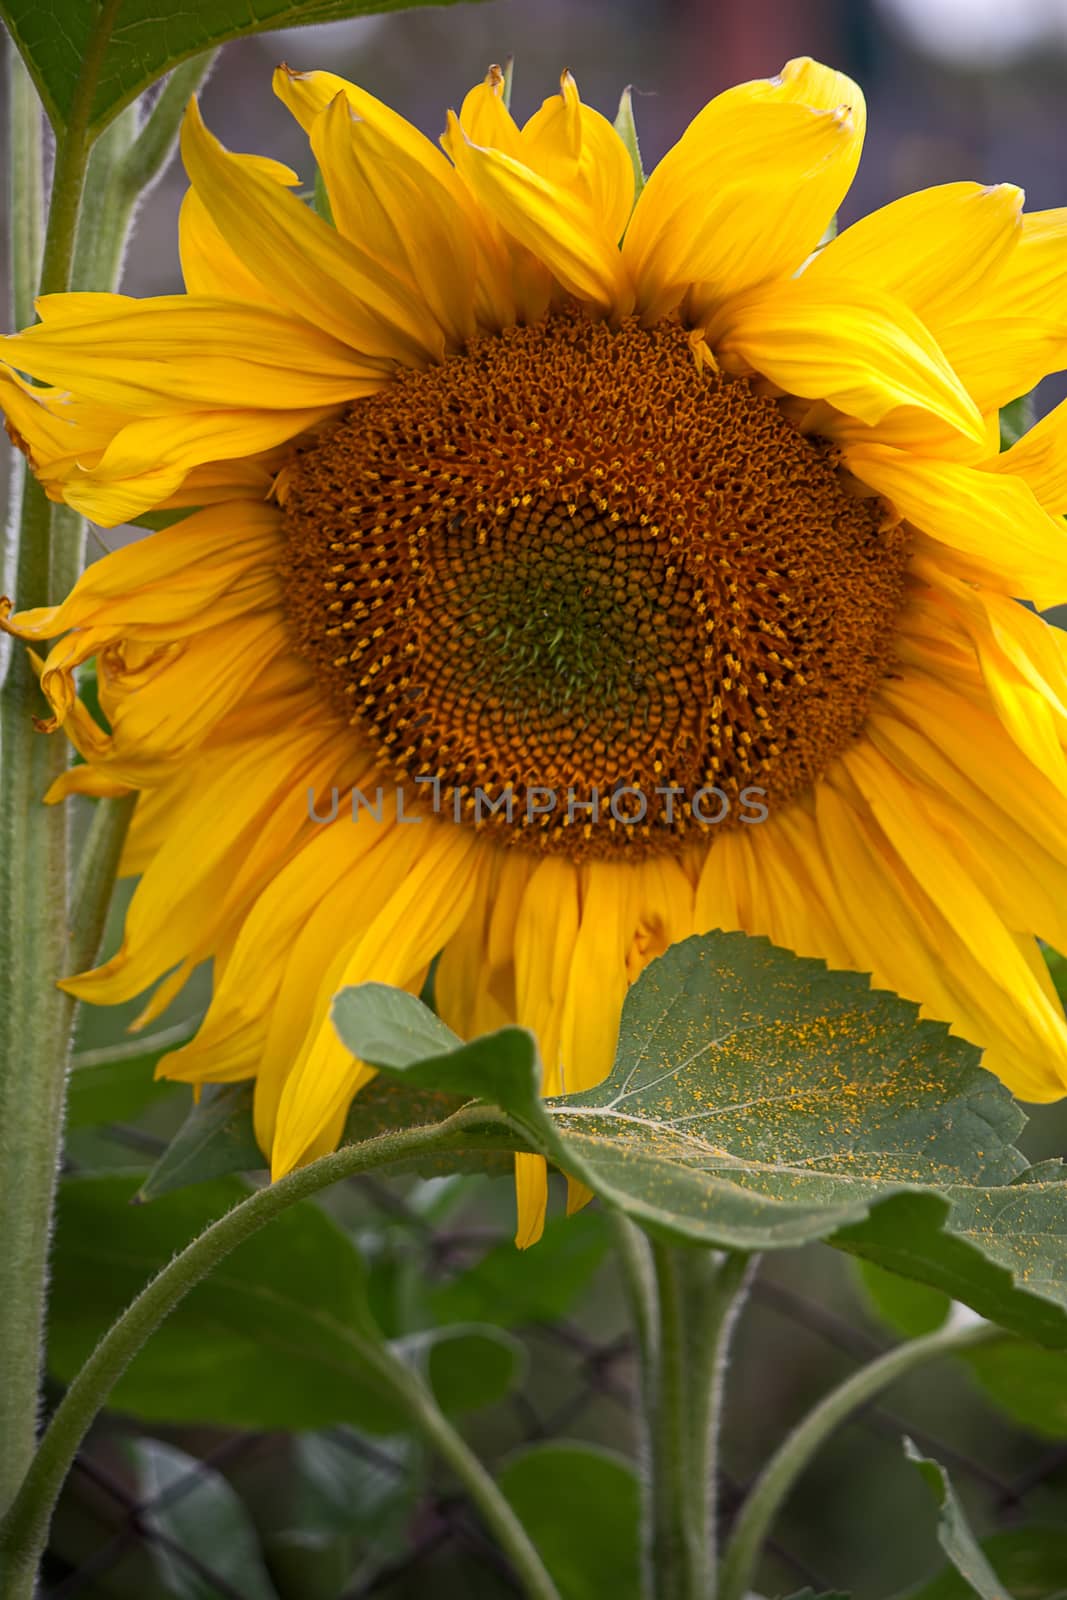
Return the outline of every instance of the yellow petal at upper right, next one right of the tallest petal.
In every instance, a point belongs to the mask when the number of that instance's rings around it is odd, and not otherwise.
[[[960,307],[969,312],[1021,232],[1022,190],[1014,184],[937,184],[853,222],[814,256],[805,277],[870,283],[934,326],[934,318],[950,318]]]

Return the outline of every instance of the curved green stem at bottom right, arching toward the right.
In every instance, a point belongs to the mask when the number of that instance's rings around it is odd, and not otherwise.
[[[760,1558],[774,1518],[785,1502],[797,1478],[811,1458],[861,1406],[873,1400],[891,1382],[905,1373],[957,1350],[966,1350],[989,1339],[1005,1339],[1000,1328],[990,1323],[968,1323],[965,1328],[939,1328],[921,1339],[897,1344],[885,1355],[861,1366],[838,1389],[819,1402],[779,1446],[752,1486],[723,1555],[718,1600],[745,1600],[755,1579]]]

